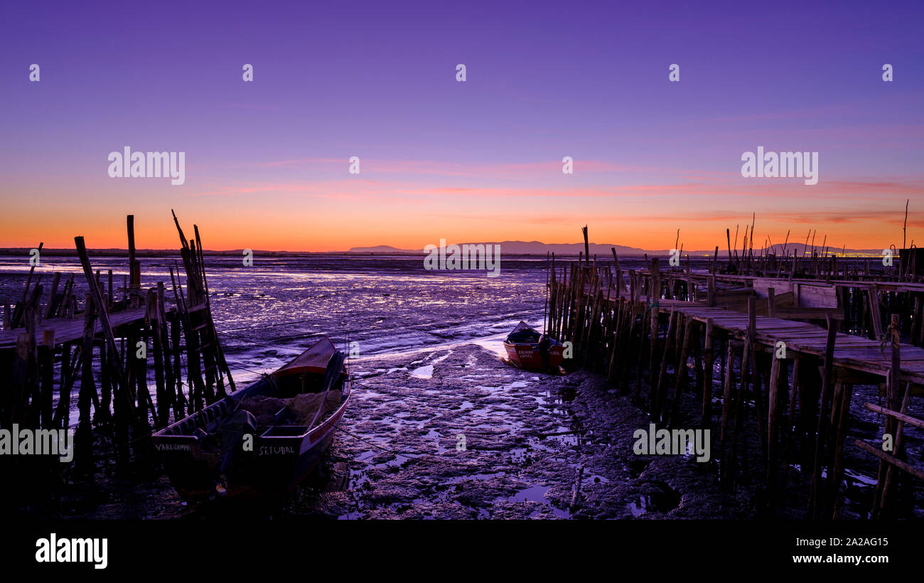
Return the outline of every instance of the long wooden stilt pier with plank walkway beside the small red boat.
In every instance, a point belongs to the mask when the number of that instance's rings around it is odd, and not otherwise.
[[[902,443],[906,425],[924,428],[906,414],[924,387],[924,261],[877,272],[861,267],[868,260],[751,257],[748,269],[716,253],[699,270],[688,258],[686,269],[666,270],[663,258],[646,258],[646,268],[624,271],[615,250],[613,261],[550,259],[544,325],[573,344],[572,366],[606,375],[661,425],[689,423],[681,402],[695,396],[695,425],[718,433],[723,485],[740,475],[751,416],[765,509],[797,464],[811,483],[806,516],[838,517],[847,446],[880,461],[871,517],[897,516],[899,474],[924,480]],[[879,386],[884,406],[855,403],[857,384]],[[882,416],[891,450],[847,439],[852,406]]]

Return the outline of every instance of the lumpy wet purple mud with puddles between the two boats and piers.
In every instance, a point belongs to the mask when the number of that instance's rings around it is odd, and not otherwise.
[[[329,464],[342,489],[287,512],[338,518],[736,518],[711,463],[635,455],[648,418],[597,375],[515,369],[463,345],[357,367]],[[334,479],[334,482],[336,480]],[[577,492],[577,493],[576,493]]]

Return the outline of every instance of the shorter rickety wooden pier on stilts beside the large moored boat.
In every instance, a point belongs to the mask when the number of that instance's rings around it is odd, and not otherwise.
[[[76,391],[74,461],[87,480],[100,457],[112,456],[123,468],[129,461],[150,461],[152,428],[165,427],[234,390],[214,329],[199,229],[187,239],[176,215],[174,222],[185,281],[177,263],[169,282],[142,288],[134,217],[128,215],[122,285],[116,285],[111,269],[94,271],[84,238],[75,237],[83,281],[74,275],[65,281],[55,273],[46,289],[41,277],[33,282],[33,266],[22,300],[5,307],[0,363],[12,373],[0,378],[0,426],[74,429],[69,426]],[[41,463],[2,457],[5,465]],[[62,475],[63,466],[44,468]],[[22,468],[5,469],[7,476],[29,475]],[[27,483],[20,486],[28,488]]]

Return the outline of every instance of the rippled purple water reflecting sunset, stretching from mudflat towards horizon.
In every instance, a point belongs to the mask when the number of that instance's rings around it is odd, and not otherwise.
[[[21,298],[28,256],[0,256],[0,304]],[[93,257],[94,270],[113,270],[121,297],[128,260]],[[141,285],[163,281],[173,303],[170,268],[177,257],[141,257]],[[231,257],[206,258],[215,326],[238,386],[277,369],[328,335],[357,364],[381,354],[413,353],[476,342],[501,351],[520,320],[541,326],[543,261],[502,263],[486,272],[428,272],[416,257],[254,257],[253,267]],[[179,268],[180,270],[182,268]],[[87,286],[76,258],[44,256],[33,276],[47,289],[55,272],[74,275],[82,305]],[[63,285],[63,284],[62,284]],[[76,406],[75,406],[76,407]],[[76,415],[76,410],[74,411]],[[75,419],[76,420],[76,419]]]

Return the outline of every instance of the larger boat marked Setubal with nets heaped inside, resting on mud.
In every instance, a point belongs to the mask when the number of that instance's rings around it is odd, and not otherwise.
[[[323,337],[259,381],[157,431],[152,442],[186,500],[285,495],[334,440],[350,388],[344,353]]]

